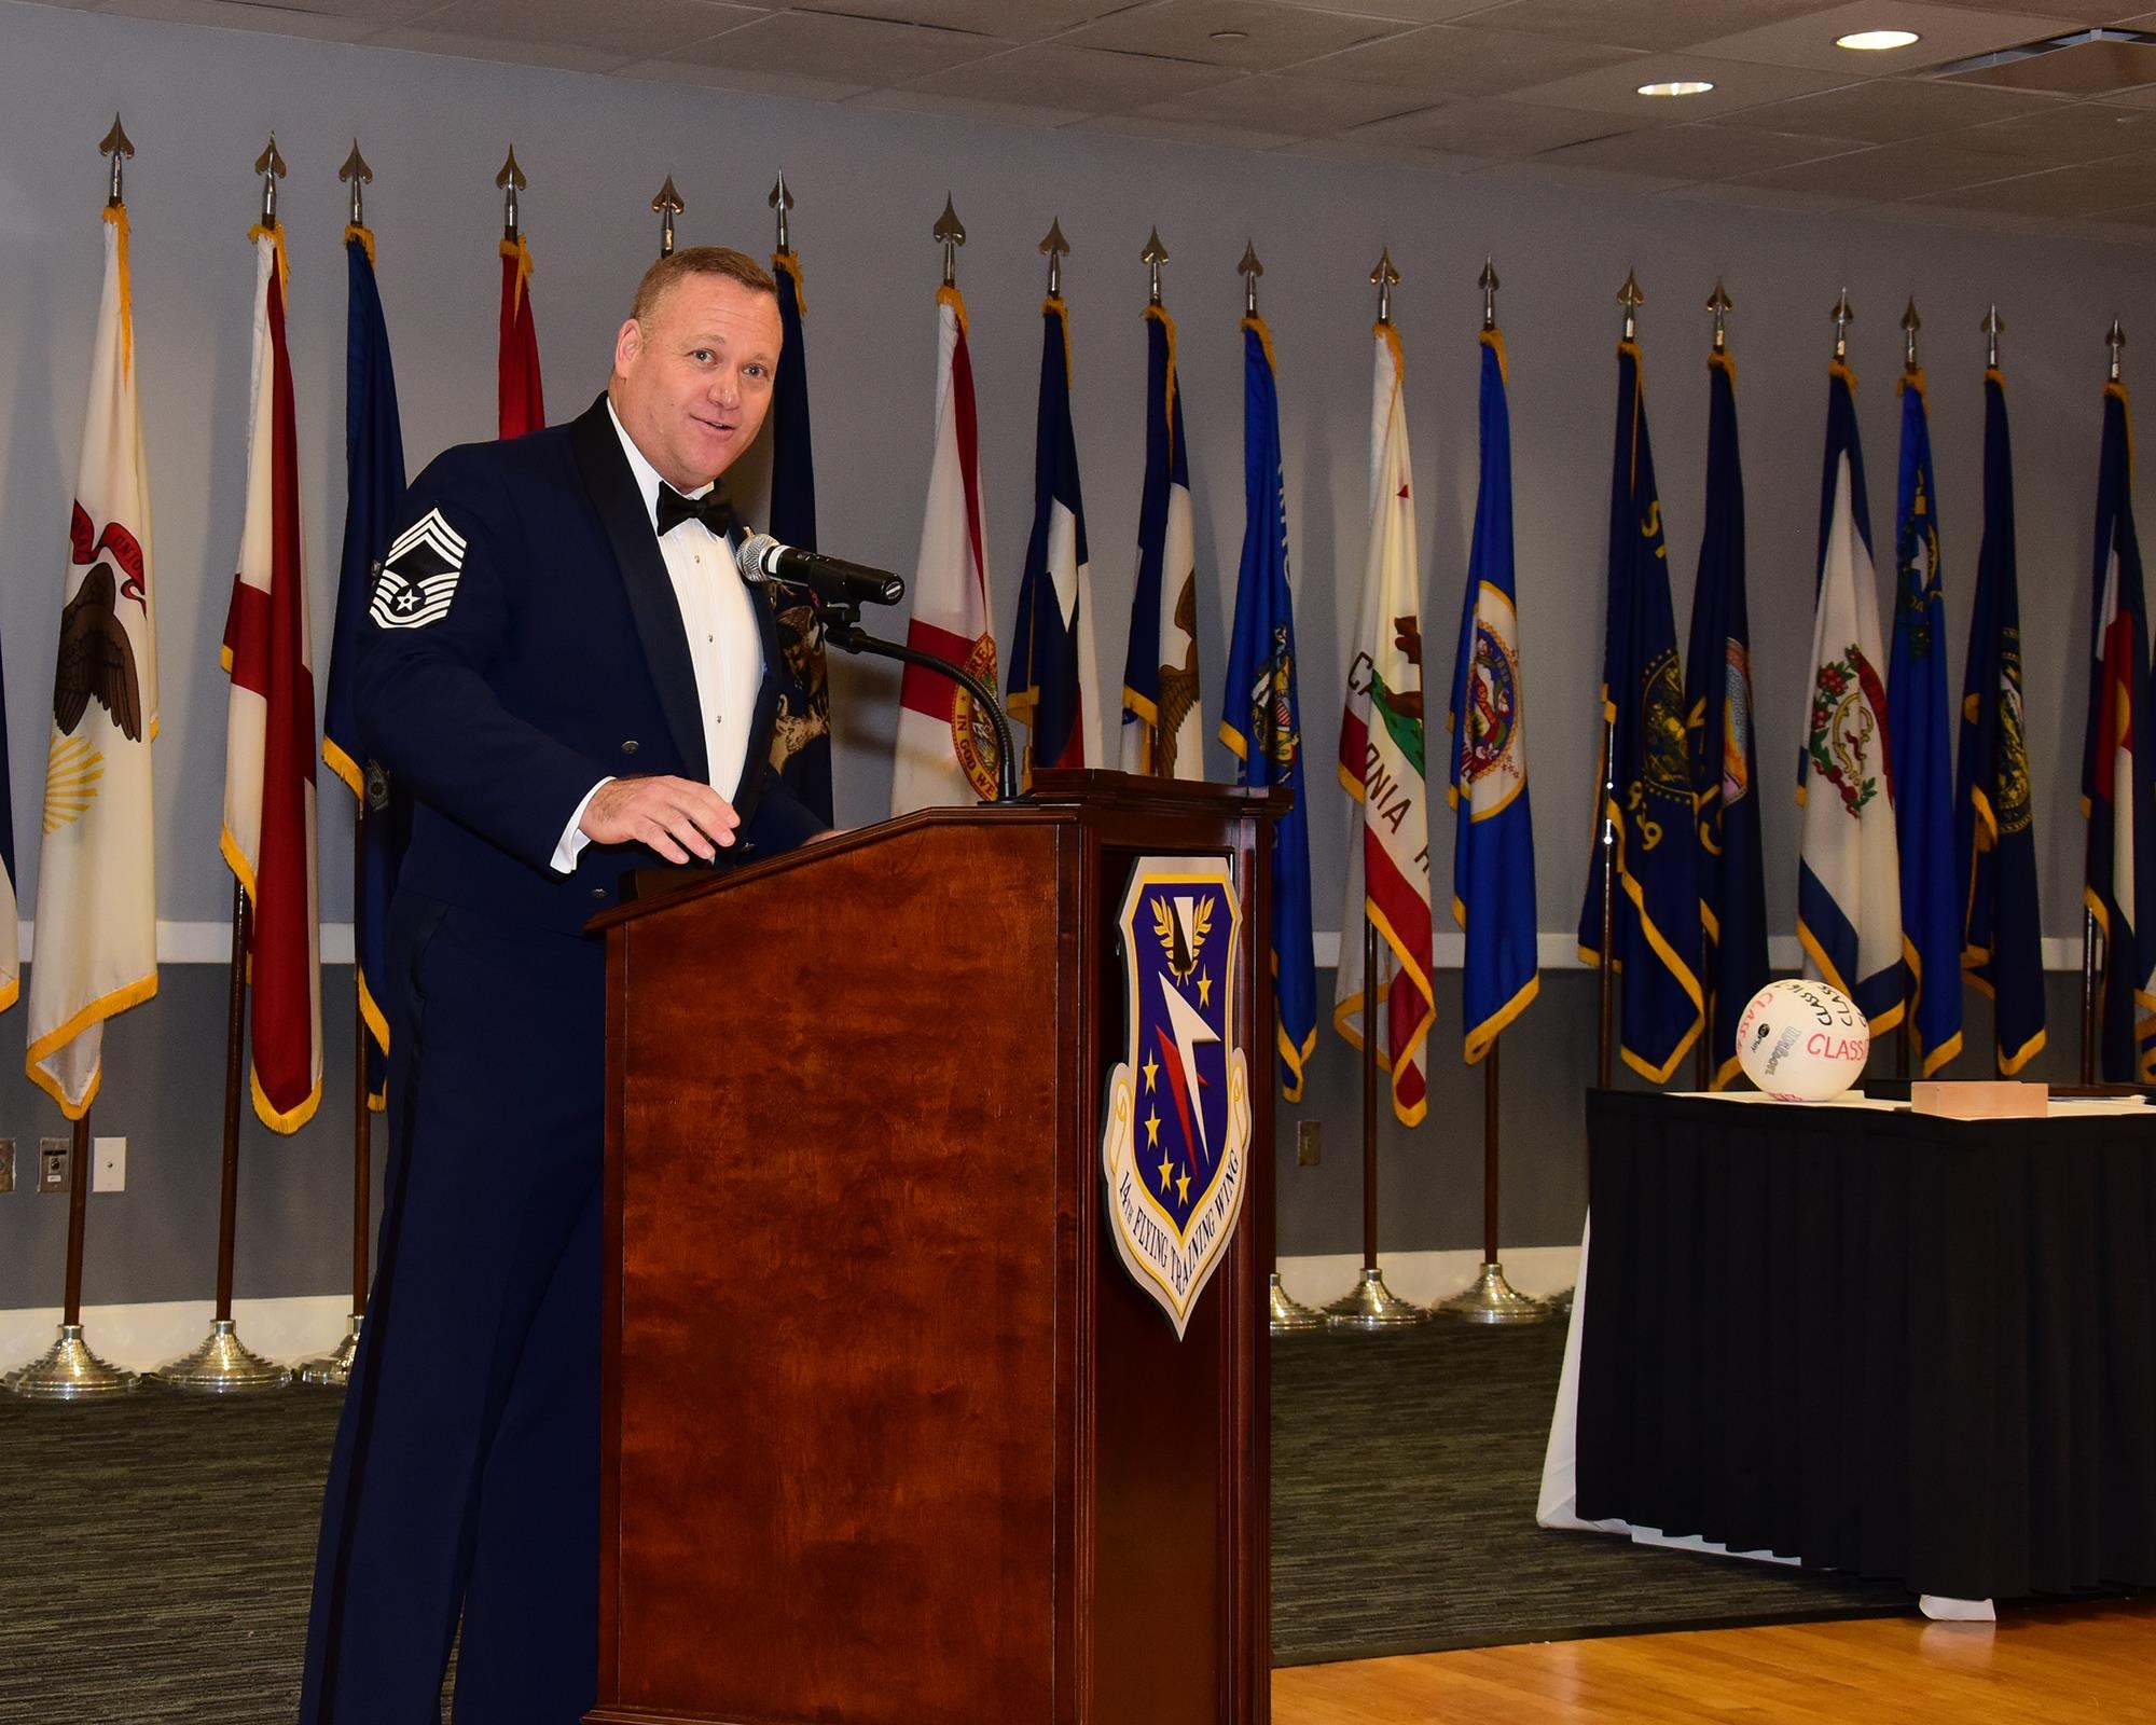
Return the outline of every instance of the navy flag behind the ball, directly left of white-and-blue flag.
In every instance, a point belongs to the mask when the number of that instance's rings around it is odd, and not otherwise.
[[[1738,1020],[1768,979],[1759,759],[1753,746],[1751,621],[1744,604],[1744,464],[1738,367],[1708,358],[1708,520],[1692,582],[1686,727],[1699,800],[1699,921],[1708,932],[1710,1089],[1738,1067]]]

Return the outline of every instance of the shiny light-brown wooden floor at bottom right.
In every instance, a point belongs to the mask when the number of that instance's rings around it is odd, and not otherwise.
[[[2156,1600],[1475,1647],[1272,1673],[1274,1725],[2156,1721]]]

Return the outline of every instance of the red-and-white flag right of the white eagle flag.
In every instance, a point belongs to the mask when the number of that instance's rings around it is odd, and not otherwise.
[[[248,895],[254,1113],[298,1132],[321,1102],[315,921],[315,671],[300,569],[300,448],[285,347],[285,229],[252,229],[254,399],[248,515],[224,619],[224,860]]]

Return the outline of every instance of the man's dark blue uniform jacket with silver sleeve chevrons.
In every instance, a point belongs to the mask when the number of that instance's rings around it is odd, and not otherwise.
[[[399,880],[573,932],[627,871],[664,867],[642,845],[586,845],[556,873],[584,794],[608,774],[709,774],[681,610],[606,397],[569,425],[442,453],[412,483],[405,524],[369,595],[356,677],[369,753],[416,796]],[[733,802],[737,850],[768,856],[824,824],[768,765],[778,632],[761,589],[750,604],[763,686]]]

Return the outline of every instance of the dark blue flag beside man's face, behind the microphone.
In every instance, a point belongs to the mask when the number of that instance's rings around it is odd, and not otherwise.
[[[778,375],[772,380],[772,520],[783,546],[813,552],[815,451],[808,442],[808,349],[802,347],[802,263],[787,250],[772,257],[778,282]],[[787,789],[826,822],[830,813],[830,681],[824,627],[815,606],[787,602],[778,610],[778,722],[772,765]]]

